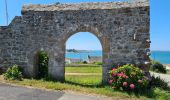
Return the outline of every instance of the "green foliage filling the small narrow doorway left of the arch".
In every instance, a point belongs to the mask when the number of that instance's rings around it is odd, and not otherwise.
[[[48,54],[45,51],[40,51],[38,58],[38,78],[45,78],[48,76]]]

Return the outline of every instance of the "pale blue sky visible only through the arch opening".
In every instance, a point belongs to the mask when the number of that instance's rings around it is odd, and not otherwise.
[[[66,42],[66,48],[78,50],[102,50],[99,39],[89,32],[79,32],[71,36]]]

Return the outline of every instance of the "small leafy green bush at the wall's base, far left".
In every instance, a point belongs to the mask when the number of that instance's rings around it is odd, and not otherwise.
[[[17,65],[9,67],[3,76],[5,80],[22,80],[22,72]]]

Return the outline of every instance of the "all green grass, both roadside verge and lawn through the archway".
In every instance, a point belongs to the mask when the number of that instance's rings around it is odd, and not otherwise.
[[[66,67],[68,73],[102,73],[101,67]],[[98,94],[125,100],[170,100],[170,91],[153,88],[144,94],[134,94],[114,90],[110,86],[101,85],[102,75],[66,75],[65,82],[23,79],[23,81],[6,81],[17,85],[32,86],[53,90],[71,90],[87,94]]]

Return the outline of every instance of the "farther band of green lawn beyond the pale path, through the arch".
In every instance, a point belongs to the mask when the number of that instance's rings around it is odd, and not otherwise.
[[[66,73],[102,73],[102,67],[74,67],[74,66],[69,66],[65,67],[65,72]]]

